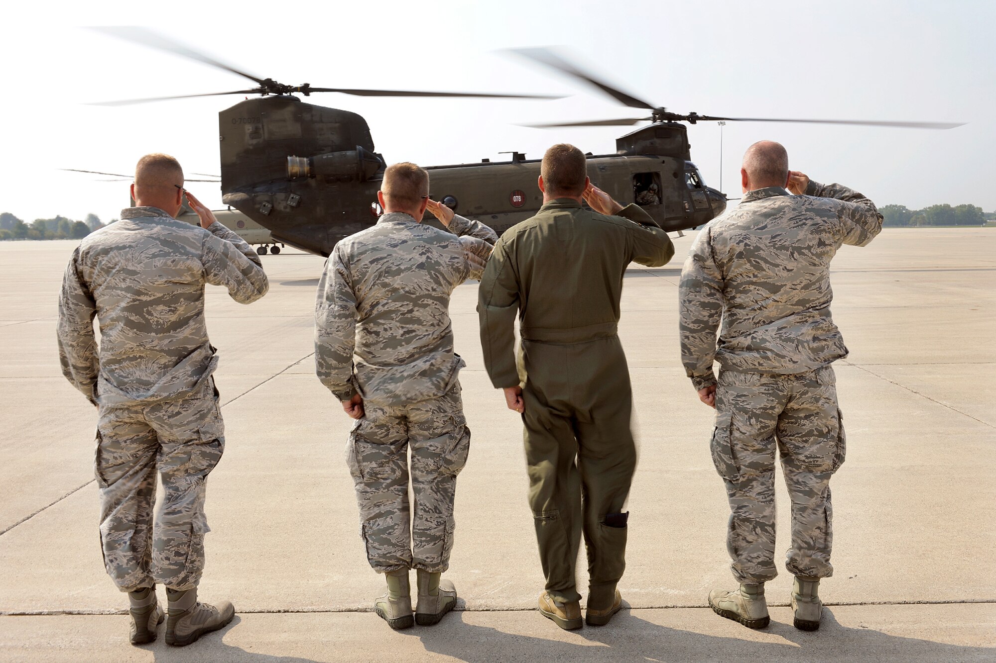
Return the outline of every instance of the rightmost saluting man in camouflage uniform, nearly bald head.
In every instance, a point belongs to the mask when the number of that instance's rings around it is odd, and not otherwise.
[[[845,453],[831,363],[848,348],[830,315],[830,261],[842,244],[871,242],[881,215],[862,194],[788,164],[777,142],[751,145],[740,205],[695,239],[681,274],[681,359],[716,408],[712,460],[729,496],[727,549],[740,582],[710,593],[709,604],[751,628],[768,625],[777,446],[792,501],[786,567],[796,576],[795,626],[816,630],[820,578],[834,572],[830,477]]]

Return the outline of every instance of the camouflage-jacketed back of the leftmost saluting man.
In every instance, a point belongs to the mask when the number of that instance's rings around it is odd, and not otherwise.
[[[226,274],[220,266],[238,253],[230,241],[161,210],[132,207],[122,216],[84,238],[73,261],[100,323],[101,402],[148,403],[192,393],[217,363],[204,320],[204,285],[226,286],[233,299],[249,304],[266,293],[266,276],[245,268],[239,270],[245,279]],[[254,252],[243,255],[259,263]],[[155,342],[139,341],[147,336]]]

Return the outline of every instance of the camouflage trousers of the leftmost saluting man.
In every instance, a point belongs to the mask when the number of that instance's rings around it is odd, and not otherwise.
[[[221,459],[217,400],[100,409],[95,472],[101,490],[104,565],[122,591],[160,583],[197,586],[204,569],[207,475]],[[155,473],[164,499],[154,525]]]

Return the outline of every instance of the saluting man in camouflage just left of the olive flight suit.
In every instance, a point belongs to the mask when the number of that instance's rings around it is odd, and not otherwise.
[[[336,245],[315,314],[318,376],[357,420],[347,463],[367,557],[387,580],[374,609],[391,628],[435,624],[456,604],[453,583],[440,575],[449,567],[456,475],[467,461],[470,429],[457,379],[466,364],[453,351],[449,296],[480,278],[497,239],[428,192],[422,168],[387,168],[377,192],[384,214]],[[421,224],[426,208],[449,232]]]

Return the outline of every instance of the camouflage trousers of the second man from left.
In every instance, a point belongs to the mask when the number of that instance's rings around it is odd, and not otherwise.
[[[399,407],[365,401],[364,409],[350,434],[346,458],[371,566],[381,573],[446,570],[453,547],[456,475],[470,451],[459,383],[439,398]],[[408,506],[409,446],[413,510]]]

